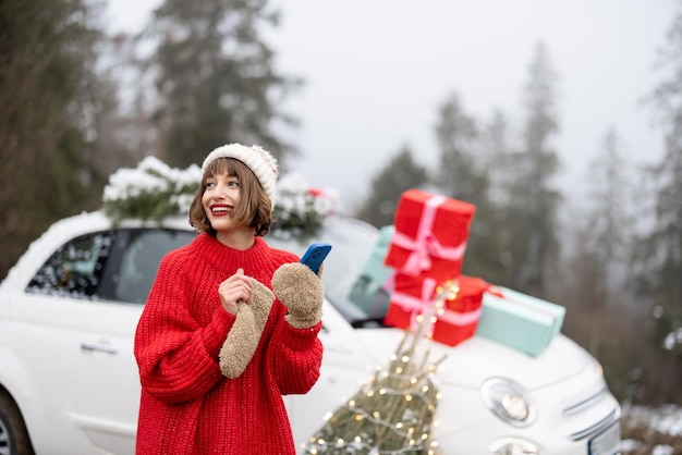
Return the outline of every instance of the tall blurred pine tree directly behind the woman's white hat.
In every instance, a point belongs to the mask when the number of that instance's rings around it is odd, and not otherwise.
[[[283,159],[293,148],[276,122],[295,121],[279,109],[300,81],[279,74],[263,39],[276,26],[267,0],[165,0],[145,36],[154,38],[160,157],[185,168],[226,143],[257,144]]]

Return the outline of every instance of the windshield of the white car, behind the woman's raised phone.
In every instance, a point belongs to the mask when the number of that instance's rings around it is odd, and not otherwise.
[[[327,299],[356,328],[377,327],[386,315],[388,295],[358,292],[369,283],[363,268],[379,237],[379,231],[363,221],[344,217],[331,217],[325,226],[314,234],[292,235],[272,231],[266,237],[270,246],[302,256],[314,242],[331,244],[331,253],[325,260],[322,280]],[[380,286],[377,286],[380,287]]]

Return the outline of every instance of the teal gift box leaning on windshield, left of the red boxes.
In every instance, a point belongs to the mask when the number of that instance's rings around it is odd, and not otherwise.
[[[365,310],[368,318],[382,317],[388,307],[394,270],[383,263],[383,258],[393,232],[395,229],[392,224],[379,230],[379,237],[349,293],[349,299]]]

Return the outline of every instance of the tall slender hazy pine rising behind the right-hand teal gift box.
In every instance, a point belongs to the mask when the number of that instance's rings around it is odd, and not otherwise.
[[[513,181],[504,208],[507,250],[511,251],[511,285],[527,294],[548,295],[559,259],[558,210],[561,201],[552,179],[559,158],[551,146],[559,125],[556,112],[557,75],[540,44],[531,63],[524,100],[523,144],[511,160]]]

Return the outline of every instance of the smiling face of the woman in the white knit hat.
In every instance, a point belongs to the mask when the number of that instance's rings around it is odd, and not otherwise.
[[[233,213],[239,200],[240,181],[236,176],[219,174],[206,180],[202,205],[216,231],[231,231],[235,228]]]

